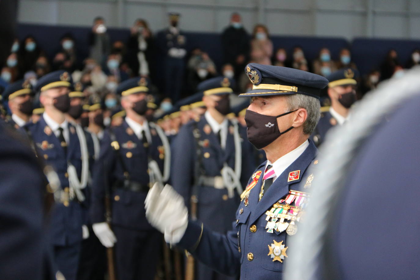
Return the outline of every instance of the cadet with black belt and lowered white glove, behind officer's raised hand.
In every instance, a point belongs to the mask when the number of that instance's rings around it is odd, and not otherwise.
[[[150,183],[168,181],[170,163],[165,134],[144,117],[148,88],[140,83],[137,77],[118,86],[126,117],[120,126],[105,131],[93,173],[92,228],[105,247],[116,242],[118,279],[127,280],[155,275],[162,236],[147,222],[142,205]],[[110,213],[104,205],[107,194]]]

